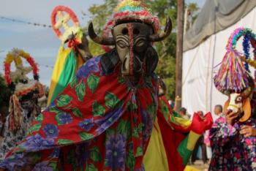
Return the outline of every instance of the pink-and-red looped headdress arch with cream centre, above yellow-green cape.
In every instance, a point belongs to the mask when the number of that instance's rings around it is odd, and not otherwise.
[[[72,26],[69,26],[70,20],[72,20]],[[51,14],[51,24],[53,31],[55,31],[62,42],[67,41],[69,35],[75,35],[78,31],[81,31],[78,17],[75,15],[75,12],[65,6],[57,6],[53,9]],[[61,32],[61,28],[63,28],[63,32]]]

